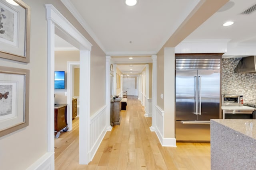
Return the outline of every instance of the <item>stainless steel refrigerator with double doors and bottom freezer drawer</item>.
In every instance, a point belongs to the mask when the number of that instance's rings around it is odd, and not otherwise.
[[[220,59],[176,59],[177,141],[210,141],[210,119],[220,116]]]

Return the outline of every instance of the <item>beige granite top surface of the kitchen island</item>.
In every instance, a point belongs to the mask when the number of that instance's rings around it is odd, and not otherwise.
[[[256,139],[256,119],[211,119],[246,136]],[[247,125],[247,127],[246,127]],[[250,128],[251,127],[251,128]]]

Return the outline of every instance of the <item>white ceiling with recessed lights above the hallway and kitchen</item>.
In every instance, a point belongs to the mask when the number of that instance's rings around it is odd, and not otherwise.
[[[115,56],[113,63],[118,63],[118,68],[126,74],[129,67],[122,63],[138,62],[141,66],[138,71],[142,70],[145,66],[142,63],[149,63],[150,56],[156,55],[167,41],[177,41],[171,39],[172,35],[201,4],[212,1],[214,6],[222,0],[138,0],[132,7],[126,6],[125,0],[61,1],[106,55]],[[240,14],[254,4],[256,0],[229,1],[197,29],[196,26],[185,41],[224,39],[232,43],[256,43],[256,12]],[[207,9],[202,11],[202,18],[207,12]],[[228,20],[234,24],[223,27]],[[56,43],[56,47],[60,46]],[[128,59],[130,56],[134,57],[132,61]]]

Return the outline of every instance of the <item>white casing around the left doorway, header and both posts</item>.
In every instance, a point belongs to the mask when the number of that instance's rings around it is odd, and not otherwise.
[[[55,33],[59,33],[59,36],[70,44],[78,47],[80,50],[80,61],[85,60],[85,63],[81,66],[85,67],[83,75],[80,76],[81,82],[85,82],[80,85],[80,101],[84,103],[80,106],[80,131],[79,140],[80,145],[79,153],[83,155],[79,157],[80,163],[88,163],[89,158],[84,153],[88,153],[88,141],[89,141],[89,124],[90,121],[90,50],[92,44],[68,21],[52,4],[46,4],[46,19],[47,19],[47,152],[54,152],[54,37]],[[81,57],[82,56],[82,57]],[[85,58],[85,59],[83,59]],[[88,59],[89,58],[89,59]],[[86,63],[88,59],[88,63]],[[88,67],[86,67],[88,66]],[[80,69],[81,72],[81,69]],[[81,75],[81,74],[80,74]],[[81,80],[82,79],[82,80]],[[89,80],[89,81],[88,81]],[[88,88],[86,88],[88,86]],[[86,93],[81,93],[81,89],[86,89]],[[88,91],[89,89],[89,91]],[[88,101],[86,101],[88,100]],[[86,111],[86,109],[87,111]],[[81,114],[81,112],[83,112]],[[81,116],[82,115],[82,116]],[[86,116],[88,117],[86,119]],[[81,127],[82,125],[82,127]],[[81,129],[83,128],[83,129]],[[85,130],[84,130],[85,129]],[[82,139],[82,140],[81,140]],[[82,159],[82,161],[81,161]],[[52,162],[51,162],[52,163]],[[54,167],[54,162],[52,163]]]

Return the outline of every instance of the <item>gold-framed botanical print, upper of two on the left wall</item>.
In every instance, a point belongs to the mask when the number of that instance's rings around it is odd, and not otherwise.
[[[30,7],[11,2],[0,0],[0,57],[29,63]]]

